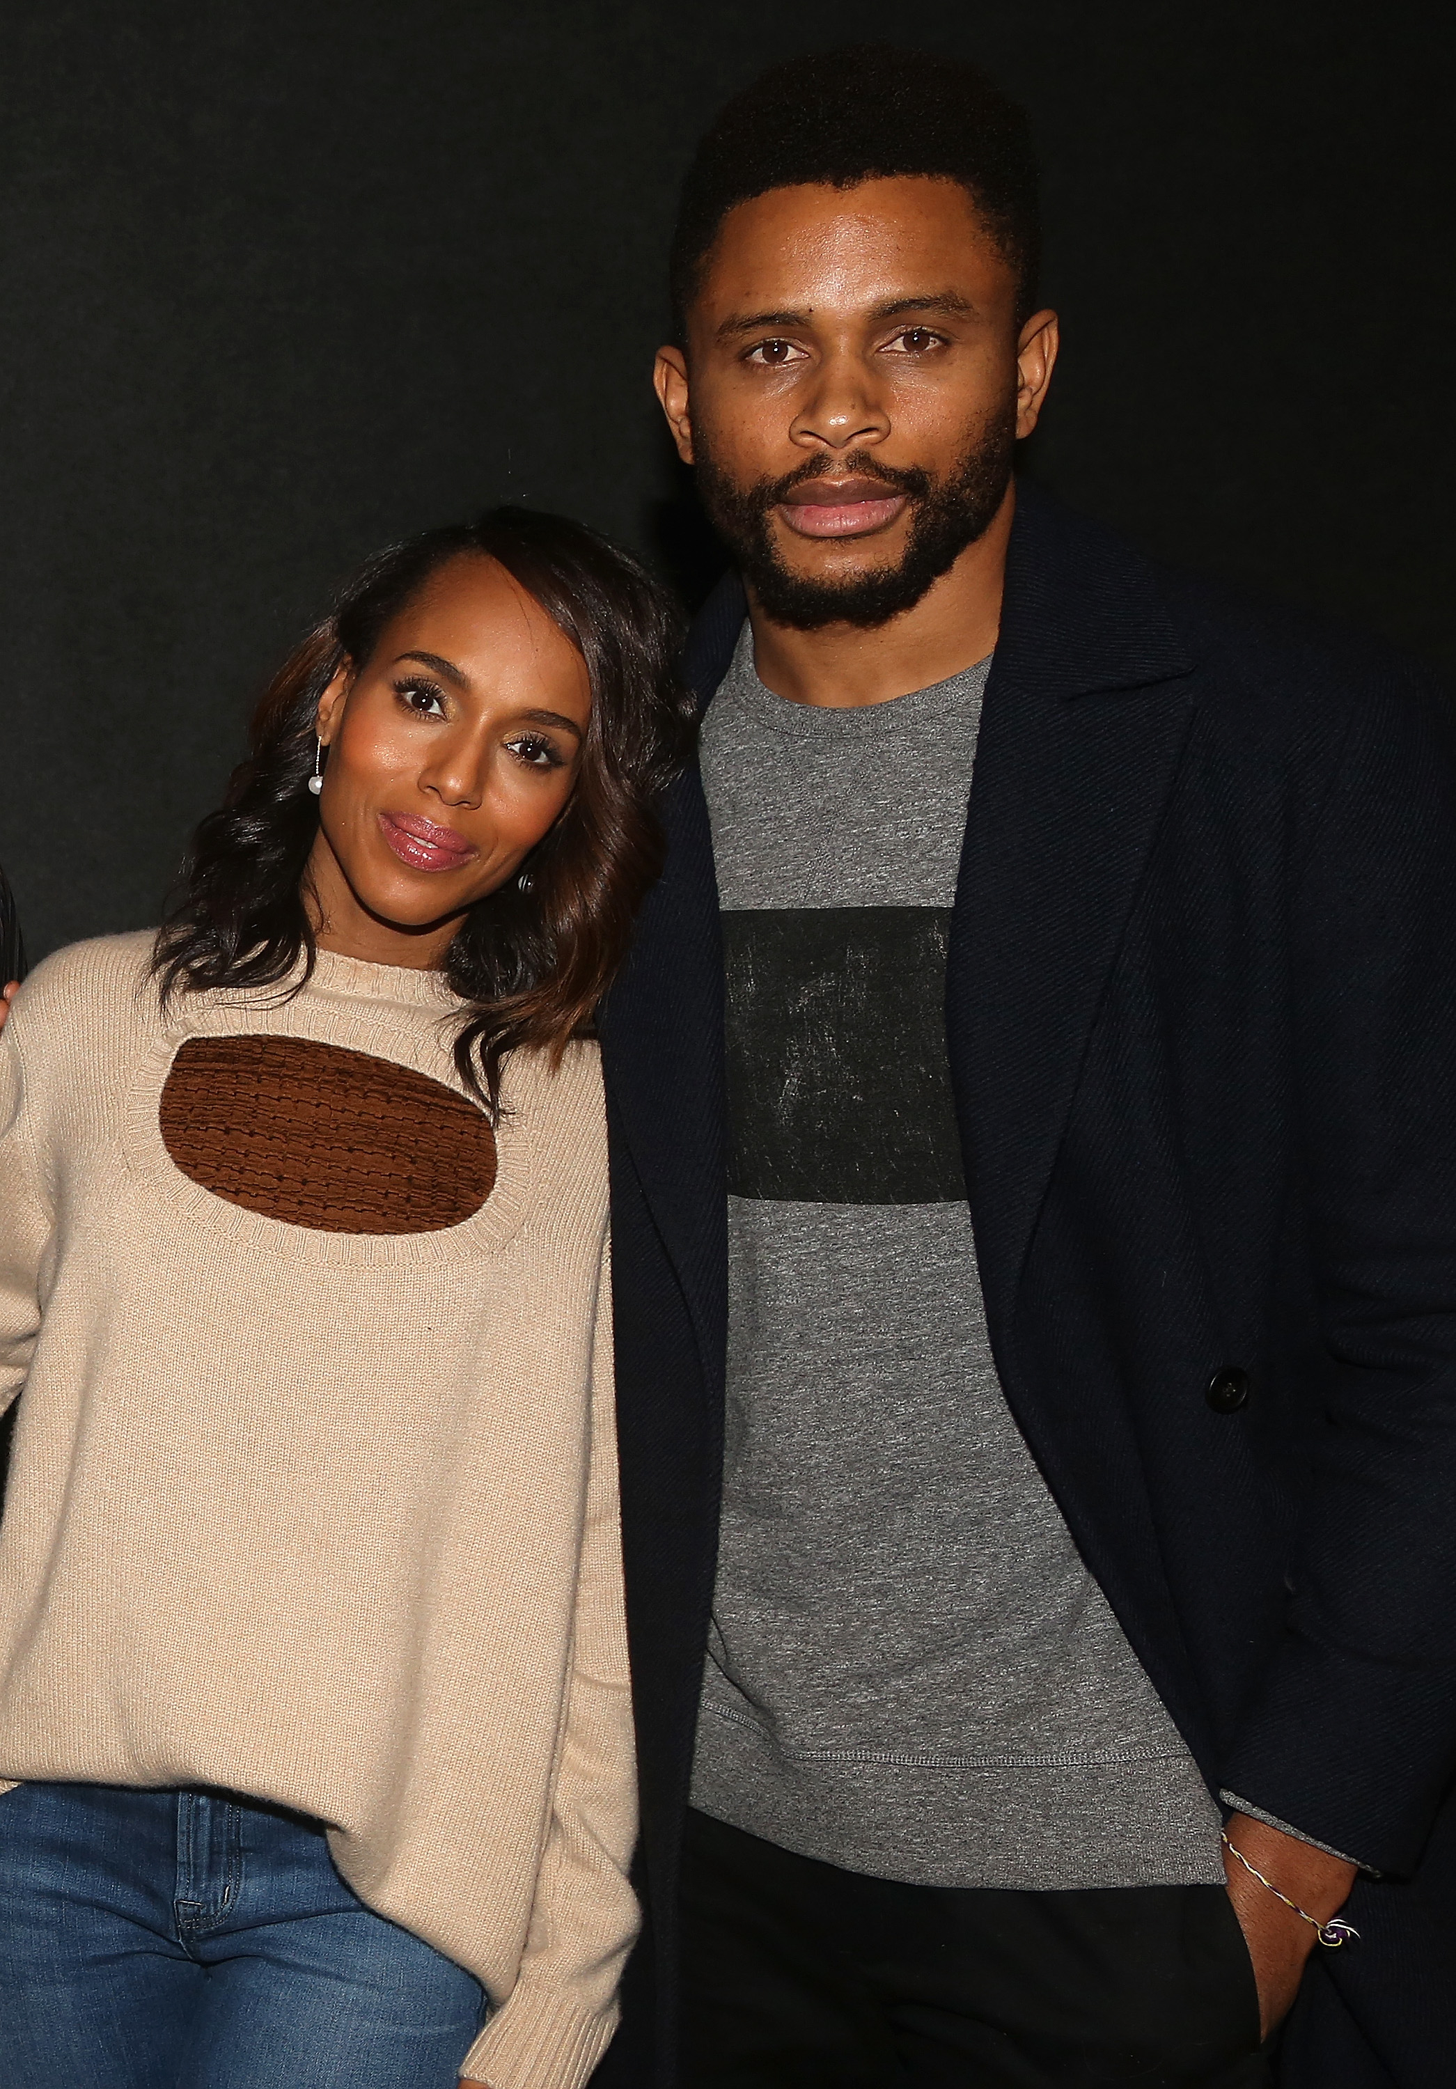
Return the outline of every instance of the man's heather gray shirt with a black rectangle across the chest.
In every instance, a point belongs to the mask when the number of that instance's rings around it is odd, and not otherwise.
[[[1218,1813],[1005,1404],[944,1042],[982,660],[702,740],[729,1053],[723,1540],[694,1805],[934,1886],[1220,1882]]]

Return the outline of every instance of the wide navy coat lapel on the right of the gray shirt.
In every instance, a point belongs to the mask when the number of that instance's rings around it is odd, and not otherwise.
[[[1153,568],[1024,489],[946,988],[978,1260],[1003,1333],[1189,735],[1191,671]]]

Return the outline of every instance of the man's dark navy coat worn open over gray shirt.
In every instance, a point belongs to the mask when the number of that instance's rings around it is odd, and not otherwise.
[[[729,581],[689,650],[704,702],[742,618]],[[633,2085],[677,2079],[727,1324],[723,965],[696,771],[666,825],[602,1017],[648,1903],[602,2079]],[[1316,1953],[1285,2079],[1450,2085],[1456,767],[1439,696],[1408,662],[1232,606],[1024,489],[946,1022],[996,1368],[1084,1558],[1210,1786],[1387,1874],[1356,1888],[1364,1941]],[[1249,1385],[1232,1410],[1226,1366]]]

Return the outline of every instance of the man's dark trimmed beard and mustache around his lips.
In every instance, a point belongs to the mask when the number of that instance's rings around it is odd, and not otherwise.
[[[783,478],[760,478],[737,487],[719,468],[710,449],[698,443],[698,493],[708,518],[727,541],[765,616],[794,631],[823,625],[884,625],[913,610],[942,572],[948,572],[967,543],[990,526],[1011,483],[1015,457],[1015,405],[996,412],[946,478],[932,478],[919,466],[892,470],[871,449],[836,457],[836,476],[877,478],[911,501],[911,529],[898,564],[848,574],[844,581],[815,581],[792,572],[769,529],[769,514],[794,489],[823,478],[827,457],[806,457]],[[844,539],[817,539],[840,541]],[[873,543],[873,539],[859,539]]]

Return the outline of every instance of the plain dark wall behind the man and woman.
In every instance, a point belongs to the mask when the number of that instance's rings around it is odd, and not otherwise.
[[[36,955],[157,917],[376,543],[516,497],[702,585],[648,393],[675,184],[762,63],[888,27],[1036,119],[1034,474],[1456,664],[1446,8],[13,0],[0,861]]]

